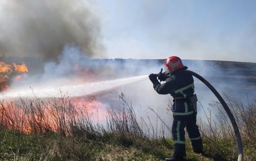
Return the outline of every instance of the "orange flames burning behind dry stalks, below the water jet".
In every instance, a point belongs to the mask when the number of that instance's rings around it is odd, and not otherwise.
[[[0,118],[2,118],[0,124],[9,130],[18,130],[26,134],[49,130],[68,135],[69,121],[79,121],[79,119],[83,121],[85,117],[90,117],[92,121],[98,123],[104,120],[107,113],[103,108],[104,104],[94,96],[72,99],[64,96],[48,101],[40,100],[38,103],[27,99],[20,101],[24,101],[25,104],[0,100]],[[27,102],[31,104],[28,105]]]

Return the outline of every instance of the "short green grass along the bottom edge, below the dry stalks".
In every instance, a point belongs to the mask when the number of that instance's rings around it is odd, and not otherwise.
[[[164,160],[173,153],[171,139],[147,139],[111,135],[61,136],[58,134],[19,134],[1,130],[0,160]],[[187,158],[193,161],[213,160],[191,151],[187,142]],[[212,157],[213,158],[213,157]]]

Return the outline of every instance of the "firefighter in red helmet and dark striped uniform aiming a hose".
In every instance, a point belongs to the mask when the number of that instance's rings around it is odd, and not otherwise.
[[[186,157],[185,130],[186,127],[191,146],[196,153],[202,153],[202,138],[196,124],[197,96],[194,94],[193,76],[186,71],[179,57],[169,57],[165,60],[165,71],[160,75],[150,74],[148,77],[158,94],[171,94],[173,97],[173,126],[174,154],[165,158],[166,161],[183,161]],[[158,79],[165,83],[158,82]]]

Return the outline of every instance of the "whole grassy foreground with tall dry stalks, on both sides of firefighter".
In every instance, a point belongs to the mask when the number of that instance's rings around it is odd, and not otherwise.
[[[148,133],[140,125],[134,108],[121,93],[122,110],[108,107],[107,125],[95,124],[69,97],[42,101],[20,99],[19,103],[0,102],[0,160],[152,160],[173,154],[173,141],[164,132]],[[256,101],[246,107],[226,97],[243,139],[244,160],[256,160]],[[195,154],[186,138],[187,160],[237,160],[232,126],[218,102],[211,102],[218,113],[208,123],[198,120],[203,138],[203,154]],[[202,107],[203,108],[203,107]],[[214,117],[214,119],[213,119]],[[214,120],[214,121],[213,121]],[[144,121],[145,123],[145,121]],[[165,126],[161,124],[162,130]]]

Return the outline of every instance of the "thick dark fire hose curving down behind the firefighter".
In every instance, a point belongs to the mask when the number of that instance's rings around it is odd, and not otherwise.
[[[163,69],[161,69],[160,73],[158,73],[157,75],[159,76],[162,73],[162,71],[163,71]],[[243,161],[243,144],[242,144],[241,135],[240,135],[238,126],[236,124],[236,120],[235,120],[232,112],[228,108],[228,105],[226,104],[224,99],[221,97],[219,92],[217,90],[215,90],[215,88],[206,79],[204,79],[202,76],[200,76],[199,74],[197,74],[197,73],[195,73],[191,70],[186,70],[186,71],[191,73],[191,75],[193,75],[197,79],[201,80],[213,92],[213,94],[217,97],[219,102],[221,102],[221,105],[223,106],[224,110],[228,114],[228,117],[229,117],[229,119],[232,123],[233,129],[234,129],[235,134],[236,134],[236,143],[237,143],[237,151],[238,151],[237,161]],[[166,73],[163,73],[163,74],[166,74]]]

